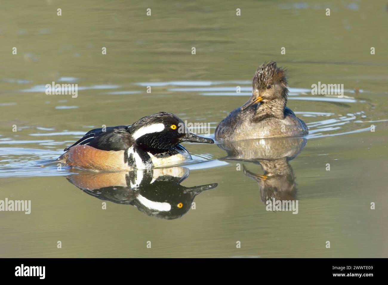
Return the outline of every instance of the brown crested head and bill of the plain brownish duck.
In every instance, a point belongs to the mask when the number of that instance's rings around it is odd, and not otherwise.
[[[277,67],[276,62],[265,62],[256,70],[252,81],[252,97],[241,106],[241,110],[258,102],[285,106],[287,95],[286,70]]]

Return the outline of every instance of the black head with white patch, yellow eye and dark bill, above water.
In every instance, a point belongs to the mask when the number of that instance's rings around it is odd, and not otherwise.
[[[142,117],[129,131],[139,147],[151,150],[168,151],[181,142],[214,143],[210,138],[190,133],[179,117],[167,112]]]

